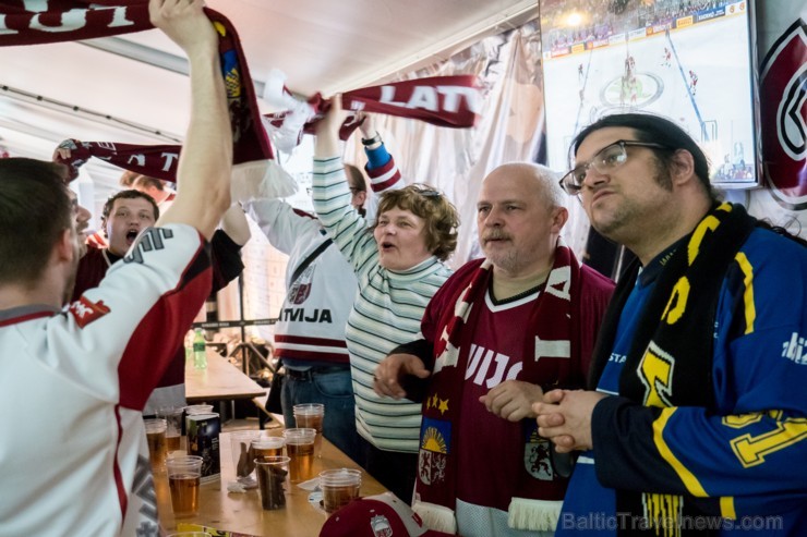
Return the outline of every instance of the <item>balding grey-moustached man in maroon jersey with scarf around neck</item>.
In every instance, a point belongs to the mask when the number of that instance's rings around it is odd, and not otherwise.
[[[486,259],[434,295],[423,339],[375,371],[382,395],[414,398],[429,379],[413,509],[463,537],[552,535],[566,490],[530,404],[583,385],[613,283],[580,266],[559,234],[568,218],[546,168],[510,163],[482,183]],[[415,379],[417,380],[417,379]]]

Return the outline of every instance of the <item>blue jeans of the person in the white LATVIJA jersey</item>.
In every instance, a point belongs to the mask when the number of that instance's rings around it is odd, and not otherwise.
[[[296,404],[325,405],[323,436],[353,461],[359,461],[359,435],[356,432],[356,400],[350,369],[313,373],[300,379],[286,375],[280,389],[280,404],[286,427],[294,427],[292,407]]]

